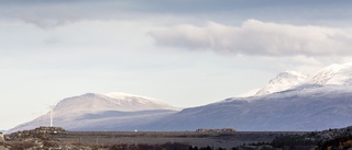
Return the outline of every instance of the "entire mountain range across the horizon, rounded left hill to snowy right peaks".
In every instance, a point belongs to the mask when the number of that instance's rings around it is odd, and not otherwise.
[[[61,101],[54,125],[68,130],[322,130],[352,125],[352,64],[310,76],[285,71],[255,95],[179,111],[155,99],[112,93]],[[48,125],[50,114],[10,131]]]

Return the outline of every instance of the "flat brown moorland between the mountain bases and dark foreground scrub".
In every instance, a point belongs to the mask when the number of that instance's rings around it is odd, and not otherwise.
[[[197,131],[64,131],[53,138],[64,142],[109,146],[155,145],[167,142],[187,143],[195,147],[232,148],[243,143],[271,142],[279,135],[301,135],[292,131],[233,131],[233,132],[197,132]]]

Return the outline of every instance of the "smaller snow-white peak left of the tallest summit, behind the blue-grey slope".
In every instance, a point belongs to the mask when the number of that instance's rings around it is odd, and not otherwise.
[[[261,89],[255,95],[265,95],[279,91],[292,89],[306,81],[307,74],[302,74],[296,71],[285,71],[272,79],[268,84]]]

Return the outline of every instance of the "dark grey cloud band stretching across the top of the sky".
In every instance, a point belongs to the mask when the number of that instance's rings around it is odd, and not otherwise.
[[[217,22],[258,19],[305,24],[346,21],[348,0],[0,0],[0,19],[20,19],[42,28],[80,20],[132,20],[172,15]]]

